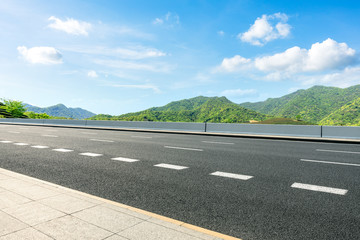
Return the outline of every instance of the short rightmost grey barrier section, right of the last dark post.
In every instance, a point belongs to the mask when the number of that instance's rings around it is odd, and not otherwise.
[[[322,136],[326,138],[360,139],[360,127],[323,126]]]

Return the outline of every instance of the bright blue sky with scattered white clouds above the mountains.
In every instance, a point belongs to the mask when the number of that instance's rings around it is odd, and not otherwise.
[[[360,84],[357,0],[1,0],[0,98],[119,115]]]

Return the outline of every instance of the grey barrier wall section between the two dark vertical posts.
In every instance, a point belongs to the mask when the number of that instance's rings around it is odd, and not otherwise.
[[[227,132],[227,133],[300,136],[300,137],[321,136],[321,126],[317,126],[317,125],[306,126],[306,125],[208,123],[206,129],[207,132]]]

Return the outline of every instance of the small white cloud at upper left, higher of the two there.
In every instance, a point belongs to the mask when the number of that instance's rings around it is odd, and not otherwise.
[[[59,18],[51,16],[48,20],[53,21],[48,27],[64,31],[68,34],[87,36],[91,29],[90,23],[78,21],[73,18],[67,18],[65,21],[62,21]]]

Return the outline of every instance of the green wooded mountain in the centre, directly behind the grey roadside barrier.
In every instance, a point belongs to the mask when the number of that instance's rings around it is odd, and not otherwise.
[[[195,97],[171,102],[162,107],[127,113],[120,116],[96,115],[91,120],[161,121],[161,122],[222,122],[245,123],[262,121],[265,114],[239,106],[226,97]]]

